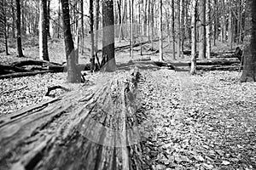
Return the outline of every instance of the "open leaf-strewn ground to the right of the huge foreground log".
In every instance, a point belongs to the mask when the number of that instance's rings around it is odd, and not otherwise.
[[[213,73],[145,72],[147,168],[256,168],[255,83],[237,82],[236,72]]]

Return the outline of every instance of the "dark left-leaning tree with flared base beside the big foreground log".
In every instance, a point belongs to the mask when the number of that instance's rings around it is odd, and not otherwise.
[[[75,51],[73,37],[70,27],[69,4],[68,0],[61,0],[64,42],[67,59],[67,82],[80,82],[81,72],[77,71],[75,64]]]

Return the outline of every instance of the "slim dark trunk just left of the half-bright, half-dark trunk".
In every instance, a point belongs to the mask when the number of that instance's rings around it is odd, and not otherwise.
[[[20,0],[16,0],[16,8],[17,8],[17,18],[16,18],[16,28],[17,28],[17,53],[18,57],[24,57],[22,53],[22,45],[21,45],[21,28],[20,28]]]

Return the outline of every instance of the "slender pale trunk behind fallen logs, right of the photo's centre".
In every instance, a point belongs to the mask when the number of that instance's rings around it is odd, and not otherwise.
[[[159,58],[159,60],[162,61],[162,60],[164,60],[164,55],[163,55],[163,1],[162,0],[160,0],[160,7],[159,7],[159,35],[160,35],[160,40],[159,40],[160,58]]]

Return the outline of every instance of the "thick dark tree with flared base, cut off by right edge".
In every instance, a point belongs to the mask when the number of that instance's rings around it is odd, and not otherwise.
[[[252,33],[250,46],[245,49],[241,82],[256,82],[256,1],[249,2],[252,3]]]

